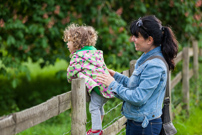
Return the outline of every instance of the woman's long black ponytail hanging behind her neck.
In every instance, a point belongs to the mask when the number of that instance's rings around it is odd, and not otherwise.
[[[161,51],[166,62],[168,63],[169,70],[174,70],[174,58],[177,56],[178,42],[173,31],[169,27],[163,26],[162,32],[163,36],[161,40]]]

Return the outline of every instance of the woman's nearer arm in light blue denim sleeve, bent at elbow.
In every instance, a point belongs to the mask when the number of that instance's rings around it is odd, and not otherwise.
[[[122,100],[130,102],[135,106],[142,106],[158,87],[162,72],[165,71],[157,64],[148,64],[144,71],[142,71],[139,86],[135,89],[124,87],[123,84],[116,81],[111,81],[107,86],[109,86],[109,90],[119,96]],[[107,80],[105,82],[107,82]]]

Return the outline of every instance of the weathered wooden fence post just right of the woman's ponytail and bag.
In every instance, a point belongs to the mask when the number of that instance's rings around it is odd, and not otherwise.
[[[182,67],[182,92],[183,92],[183,109],[189,116],[189,48],[183,48],[183,67]]]

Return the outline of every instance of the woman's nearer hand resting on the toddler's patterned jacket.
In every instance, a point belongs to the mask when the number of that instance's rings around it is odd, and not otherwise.
[[[110,85],[111,82],[114,81],[114,78],[111,76],[111,75],[108,75],[108,74],[100,74],[100,75],[97,75],[97,81],[102,83],[102,84],[105,84],[107,87]]]

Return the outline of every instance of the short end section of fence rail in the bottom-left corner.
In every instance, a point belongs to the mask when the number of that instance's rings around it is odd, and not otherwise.
[[[13,115],[4,116],[0,118],[0,134],[1,135],[15,134],[15,121]]]

